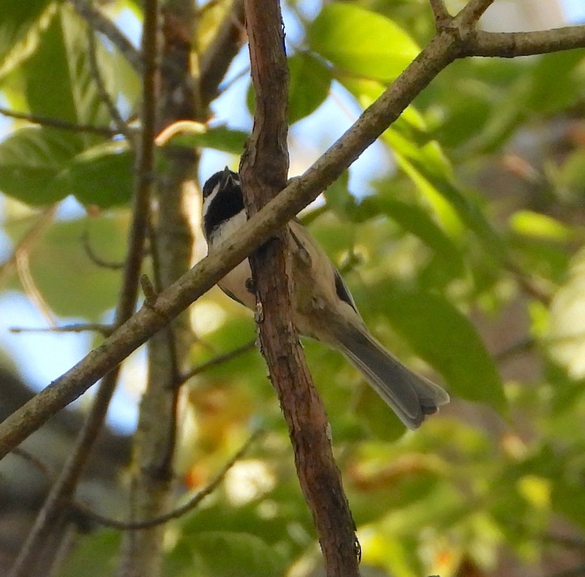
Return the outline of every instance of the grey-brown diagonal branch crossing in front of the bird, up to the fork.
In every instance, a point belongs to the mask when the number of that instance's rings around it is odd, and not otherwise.
[[[456,40],[451,36],[435,36],[400,79],[364,111],[353,127],[304,176],[293,180],[276,199],[250,218],[242,230],[161,292],[154,304],[143,306],[80,363],[9,416],[0,425],[0,457],[121,363],[140,344],[242,262],[254,248],[270,238],[278,227],[319,196],[458,53]]]

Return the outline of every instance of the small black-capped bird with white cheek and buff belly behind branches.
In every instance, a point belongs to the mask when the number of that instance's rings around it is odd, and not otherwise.
[[[203,231],[209,250],[246,223],[239,175],[226,166],[203,187]],[[426,415],[449,402],[438,385],[413,373],[371,336],[345,282],[300,221],[288,224],[292,238],[293,322],[297,331],[341,351],[400,420],[416,429]],[[228,296],[256,308],[246,259],[219,281]]]

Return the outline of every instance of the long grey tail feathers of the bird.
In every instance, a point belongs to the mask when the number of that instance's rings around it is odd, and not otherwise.
[[[449,402],[445,390],[405,367],[367,329],[352,327],[337,337],[342,353],[409,429]]]

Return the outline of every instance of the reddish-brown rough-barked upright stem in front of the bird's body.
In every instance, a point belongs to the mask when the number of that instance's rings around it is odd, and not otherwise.
[[[254,128],[242,156],[249,216],[283,189],[288,171],[288,67],[277,0],[246,0]],[[325,408],[311,380],[292,326],[288,228],[250,257],[259,301],[260,343],[288,424],[297,474],[311,509],[327,575],[359,575],[355,524],[333,461]]]

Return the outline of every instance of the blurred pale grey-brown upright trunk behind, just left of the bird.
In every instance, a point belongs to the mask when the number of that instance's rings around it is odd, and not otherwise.
[[[194,4],[170,0],[163,15],[161,51],[160,131],[177,120],[198,116],[197,95],[192,90],[191,39]],[[198,155],[187,149],[164,151],[167,169],[157,187],[158,210],[150,228],[150,252],[156,292],[163,291],[191,267],[193,232],[190,200]],[[173,504],[174,455],[177,443],[177,409],[180,374],[185,369],[192,342],[188,315],[184,313],[154,334],[148,343],[148,381],[140,402],[134,442],[134,467],[130,514],[134,519],[164,515]],[[163,560],[164,524],[128,531],[123,535],[118,575],[156,577]]]

